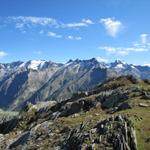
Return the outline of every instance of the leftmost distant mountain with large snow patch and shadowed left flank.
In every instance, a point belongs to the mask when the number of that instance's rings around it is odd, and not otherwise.
[[[45,65],[35,65],[34,63],[32,61],[16,62],[2,66],[0,69],[1,108],[18,108],[40,89],[61,66],[61,64],[52,62],[45,62]]]

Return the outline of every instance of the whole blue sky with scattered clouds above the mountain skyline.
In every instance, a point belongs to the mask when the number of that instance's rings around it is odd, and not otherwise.
[[[0,62],[150,64],[149,0],[0,0]]]

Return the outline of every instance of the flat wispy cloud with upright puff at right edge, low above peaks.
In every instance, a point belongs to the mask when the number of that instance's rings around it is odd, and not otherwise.
[[[130,52],[146,52],[150,50],[150,43],[147,41],[147,36],[147,34],[141,34],[141,40],[134,42],[130,47],[100,46],[99,49],[105,50],[109,54],[117,55],[128,55]]]

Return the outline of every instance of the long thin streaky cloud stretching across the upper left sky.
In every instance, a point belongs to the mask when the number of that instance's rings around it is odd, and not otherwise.
[[[9,16],[5,18],[7,23],[15,23],[17,29],[31,28],[35,26],[54,28],[80,28],[94,24],[90,19],[82,19],[80,22],[64,23],[50,17],[35,16]]]

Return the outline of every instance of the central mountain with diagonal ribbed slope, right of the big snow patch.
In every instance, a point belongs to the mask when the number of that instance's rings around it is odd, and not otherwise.
[[[107,69],[97,61],[75,61],[64,65],[28,101],[64,100],[74,92],[89,90],[107,78]]]

